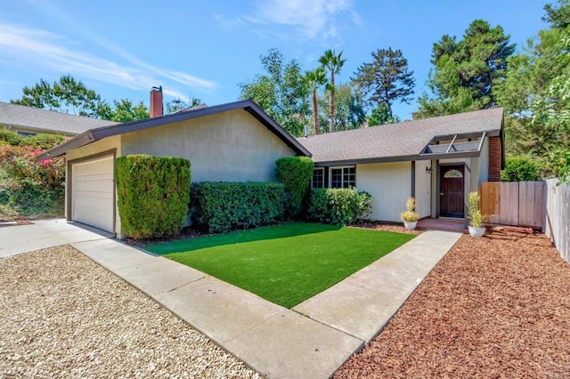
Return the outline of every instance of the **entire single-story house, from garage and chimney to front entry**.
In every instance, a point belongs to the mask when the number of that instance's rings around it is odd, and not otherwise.
[[[371,193],[371,218],[399,222],[406,199],[420,217],[464,219],[468,192],[499,181],[503,110],[485,109],[308,138],[293,138],[253,101],[162,115],[151,91],[151,118],[89,129],[38,159],[65,155],[66,217],[121,236],[115,158],[185,157],[192,181],[272,181],[280,157],[312,157],[313,188]]]

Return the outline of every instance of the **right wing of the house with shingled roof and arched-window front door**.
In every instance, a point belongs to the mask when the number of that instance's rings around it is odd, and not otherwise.
[[[399,222],[406,198],[420,217],[465,219],[469,191],[500,181],[503,109],[300,138],[315,163],[313,188],[371,193],[371,218]]]

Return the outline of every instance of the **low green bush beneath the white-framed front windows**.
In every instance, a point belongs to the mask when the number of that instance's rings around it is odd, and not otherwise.
[[[357,218],[367,218],[372,208],[368,192],[356,189],[313,189],[307,209],[309,219],[346,225]]]

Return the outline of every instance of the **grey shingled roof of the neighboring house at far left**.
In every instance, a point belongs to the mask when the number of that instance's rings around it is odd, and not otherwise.
[[[0,125],[35,129],[38,133],[77,135],[89,129],[113,124],[117,123],[0,101]]]

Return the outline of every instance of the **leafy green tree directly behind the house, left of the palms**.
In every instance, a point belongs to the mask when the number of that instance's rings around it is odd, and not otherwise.
[[[240,99],[251,99],[294,136],[303,135],[305,117],[310,113],[306,101],[309,86],[297,60],[283,62],[283,54],[271,49],[262,55],[265,74],[240,83]]]

